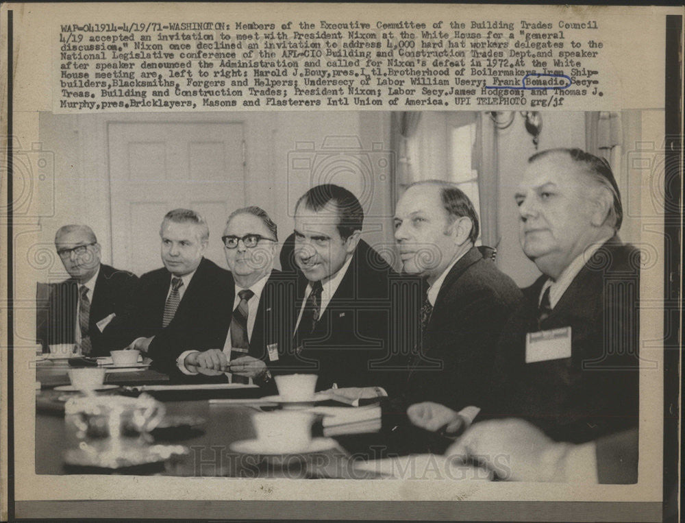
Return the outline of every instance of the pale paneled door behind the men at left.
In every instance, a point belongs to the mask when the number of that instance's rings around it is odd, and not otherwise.
[[[177,207],[205,217],[206,256],[226,266],[223,227],[246,204],[244,135],[242,122],[108,124],[114,267],[161,267],[160,223]]]

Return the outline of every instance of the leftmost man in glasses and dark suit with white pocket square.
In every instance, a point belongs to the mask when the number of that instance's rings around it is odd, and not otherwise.
[[[63,226],[55,248],[70,278],[39,287],[37,339],[43,352],[53,343],[74,343],[93,357],[121,348],[114,333],[130,312],[138,278],[100,262],[100,245],[88,226]]]

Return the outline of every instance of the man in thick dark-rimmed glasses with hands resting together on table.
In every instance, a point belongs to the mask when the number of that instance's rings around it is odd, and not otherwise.
[[[273,269],[277,226],[259,207],[238,209],[228,217],[222,236],[226,263],[235,281],[233,313],[223,348],[187,351],[178,359],[184,374],[228,373],[232,382],[251,378],[259,385],[271,380],[267,364],[278,360],[279,348],[292,326],[284,311],[290,278]]]

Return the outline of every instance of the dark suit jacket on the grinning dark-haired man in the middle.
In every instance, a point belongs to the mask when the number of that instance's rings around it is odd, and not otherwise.
[[[384,386],[383,368],[390,354],[391,280],[397,274],[375,250],[360,241],[347,272],[316,323],[300,346],[295,340],[280,356],[273,372],[319,375],[316,388]],[[308,281],[297,275],[297,302],[292,310],[295,326]]]

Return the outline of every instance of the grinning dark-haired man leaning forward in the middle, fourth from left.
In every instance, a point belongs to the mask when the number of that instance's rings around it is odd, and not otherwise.
[[[385,385],[394,271],[360,240],[364,211],[347,189],[314,186],[295,206],[299,269],[292,352],[278,372],[318,374],[317,389]]]

